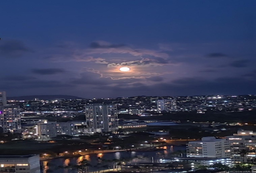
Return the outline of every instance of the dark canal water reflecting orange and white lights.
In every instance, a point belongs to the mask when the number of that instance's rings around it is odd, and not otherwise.
[[[88,167],[89,171],[103,170],[108,168],[96,168],[97,164],[102,160],[113,160],[113,159],[127,159],[126,164],[138,164],[141,162],[157,162],[159,159],[164,159],[170,157],[171,153],[178,150],[185,150],[185,146],[165,146],[163,147],[166,150],[162,151],[150,151],[150,152],[113,152],[113,153],[104,153],[104,154],[92,154],[85,155],[80,157],[72,158],[56,158],[47,161],[41,161],[42,173],[78,173],[77,170],[62,168],[61,166],[77,165],[79,162],[84,159],[90,161],[92,167]],[[102,165],[103,163],[101,163]],[[110,169],[113,169],[113,163],[108,162],[105,165],[109,165]]]

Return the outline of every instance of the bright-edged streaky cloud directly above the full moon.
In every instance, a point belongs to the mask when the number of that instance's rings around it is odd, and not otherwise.
[[[149,66],[149,65],[165,65],[169,64],[169,60],[166,60],[164,58],[155,58],[155,59],[142,59],[137,61],[127,61],[127,62],[121,62],[121,63],[110,63],[107,65],[107,67],[119,67],[119,66]]]

